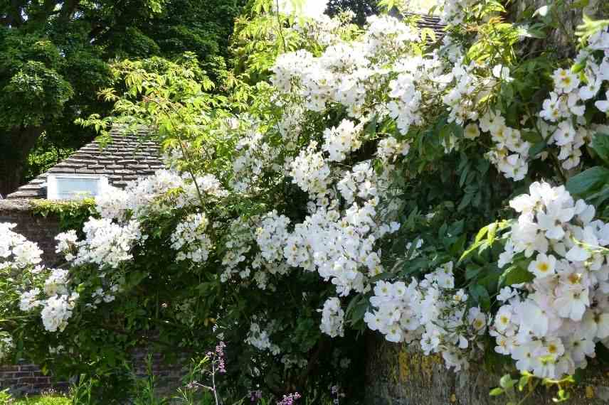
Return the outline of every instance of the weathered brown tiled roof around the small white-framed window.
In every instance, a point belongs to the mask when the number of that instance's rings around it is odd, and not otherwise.
[[[110,131],[112,141],[105,146],[99,141],[83,146],[6,198],[46,198],[46,178],[49,173],[106,175],[108,183],[124,188],[129,180],[152,175],[164,167],[159,146],[154,141],[142,141],[139,135],[144,134],[145,131],[138,135],[123,135],[120,129],[113,128]]]

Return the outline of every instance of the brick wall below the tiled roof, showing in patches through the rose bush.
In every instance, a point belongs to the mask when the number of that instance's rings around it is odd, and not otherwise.
[[[55,254],[55,235],[59,233],[59,220],[53,215],[35,215],[30,200],[0,200],[0,222],[15,223],[14,232],[22,234],[32,242],[37,242],[48,266],[61,262]],[[148,350],[135,350],[132,367],[138,377],[146,374]],[[184,362],[186,364],[186,362]],[[153,355],[153,372],[157,376],[159,389],[168,392],[179,387],[184,370],[181,365],[166,365],[161,356]],[[66,389],[68,383],[53,384],[52,377],[44,375],[36,365],[22,362],[18,365],[0,365],[0,390],[9,388],[16,395],[36,394],[49,389]]]

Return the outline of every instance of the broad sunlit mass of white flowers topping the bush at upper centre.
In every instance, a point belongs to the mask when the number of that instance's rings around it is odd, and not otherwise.
[[[359,41],[330,45],[315,58],[306,50],[280,55],[272,68],[272,83],[281,92],[292,92],[303,99],[303,107],[320,112],[327,102],[343,104],[351,117],[361,118],[370,88],[383,89],[391,81],[386,62],[413,41],[420,41],[416,29],[389,16],[371,16],[368,29]],[[403,127],[419,122],[418,91],[414,80],[423,74],[423,60],[396,64],[402,77],[391,81],[393,114],[401,117]],[[418,97],[417,97],[418,95]],[[333,155],[334,156],[334,155]],[[339,154],[337,158],[341,155]]]

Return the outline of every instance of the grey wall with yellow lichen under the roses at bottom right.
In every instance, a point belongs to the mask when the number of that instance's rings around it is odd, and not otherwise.
[[[592,377],[573,388],[566,404],[608,403],[609,370],[593,362],[588,369]],[[366,336],[366,405],[504,405],[506,396],[489,396],[500,378],[475,363],[453,372],[438,355],[425,356],[407,345],[387,342],[378,333]],[[554,404],[555,396],[556,388],[538,388],[523,404]]]

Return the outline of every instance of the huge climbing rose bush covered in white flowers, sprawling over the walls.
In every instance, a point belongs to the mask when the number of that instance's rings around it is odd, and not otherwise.
[[[494,350],[559,379],[603,352],[607,24],[563,63],[524,52],[551,23],[497,23],[494,1],[441,5],[441,39],[415,17],[360,30],[258,5],[236,42],[261,46],[231,96],[130,77],[113,121],[155,129],[167,168],[58,235],[63,269],[0,227],[2,271],[17,274],[3,288],[18,296],[3,311],[41,318],[51,340],[100,344],[80,328],[97,316],[195,351],[204,330],[243,344],[250,389],[273,373],[299,384],[318,362],[349,368],[366,328],[455,371]],[[252,85],[253,71],[267,80]]]

